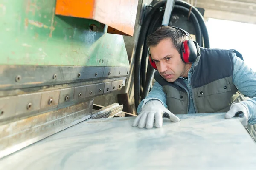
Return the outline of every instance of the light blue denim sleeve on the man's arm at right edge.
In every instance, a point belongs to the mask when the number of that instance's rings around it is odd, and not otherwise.
[[[233,53],[233,83],[238,91],[250,99],[241,101],[248,111],[248,124],[256,124],[256,73]]]

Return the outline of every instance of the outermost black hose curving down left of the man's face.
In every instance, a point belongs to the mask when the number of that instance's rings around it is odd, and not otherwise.
[[[166,1],[159,1],[157,2],[153,8],[151,8],[150,12],[145,17],[143,24],[141,26],[140,35],[137,42],[137,47],[135,51],[135,65],[134,65],[134,103],[136,109],[138,108],[138,105],[140,104],[140,67],[141,67],[141,57],[142,57],[142,51],[144,47],[144,41],[147,34],[147,29],[149,26],[149,23],[151,22],[152,17],[154,16],[155,11],[159,10],[161,6],[163,6],[166,3]]]

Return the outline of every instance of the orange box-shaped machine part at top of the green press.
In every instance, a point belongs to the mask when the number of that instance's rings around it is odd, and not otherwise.
[[[108,33],[134,34],[138,0],[57,0],[56,15],[93,19]]]

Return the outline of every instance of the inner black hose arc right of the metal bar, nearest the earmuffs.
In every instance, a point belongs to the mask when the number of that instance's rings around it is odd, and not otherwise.
[[[183,6],[175,5],[173,8],[173,13],[180,13],[184,15],[189,14],[189,9],[185,8]],[[195,14],[191,11],[189,20],[192,21],[194,28],[195,28],[195,40],[198,43],[199,46],[202,46],[202,34],[201,34],[201,28],[198,22],[198,19],[195,17]]]

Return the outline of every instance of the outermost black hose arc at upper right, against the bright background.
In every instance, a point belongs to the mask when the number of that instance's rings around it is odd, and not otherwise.
[[[194,6],[190,5],[189,3],[184,2],[182,0],[175,0],[175,5],[183,6],[188,9],[192,8],[191,12],[193,12],[195,14],[195,17],[198,19],[199,25],[201,27],[201,31],[202,31],[203,38],[204,38],[204,47],[209,48],[210,47],[209,35],[208,35],[206,25],[204,23],[204,17],[201,15],[201,13],[197,10],[197,8],[195,8]]]

